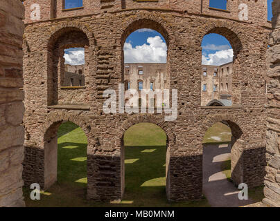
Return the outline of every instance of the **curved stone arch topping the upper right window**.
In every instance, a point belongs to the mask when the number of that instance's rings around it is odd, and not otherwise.
[[[232,26],[230,23],[211,23],[209,26],[204,28],[202,39],[200,39],[200,45],[205,35],[209,34],[218,34],[225,37],[231,44],[232,49],[234,50],[234,59],[243,49],[243,44],[240,39],[240,32],[238,28]]]

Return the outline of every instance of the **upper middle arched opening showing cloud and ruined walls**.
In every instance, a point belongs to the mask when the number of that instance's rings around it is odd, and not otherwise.
[[[123,32],[121,45],[122,82],[125,88],[130,88],[130,95],[125,94],[124,100],[127,102],[123,105],[134,107],[138,105],[139,102],[132,102],[132,99],[139,100],[143,90],[170,88],[168,34],[159,23],[148,19],[135,21]],[[143,101],[141,104],[150,108],[154,103],[149,101],[155,98],[155,105],[162,106],[163,97],[158,99],[157,96],[160,95],[148,96],[147,94],[146,97],[141,97]]]

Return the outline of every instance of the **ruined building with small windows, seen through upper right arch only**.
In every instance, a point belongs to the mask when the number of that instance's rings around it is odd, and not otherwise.
[[[201,106],[231,106],[232,62],[202,65]]]

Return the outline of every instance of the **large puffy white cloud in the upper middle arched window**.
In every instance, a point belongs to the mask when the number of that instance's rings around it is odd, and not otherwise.
[[[148,37],[147,43],[135,48],[125,43],[125,63],[166,63],[167,46],[161,37]]]

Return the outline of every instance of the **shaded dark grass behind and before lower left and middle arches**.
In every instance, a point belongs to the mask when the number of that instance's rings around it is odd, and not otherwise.
[[[41,200],[30,200],[24,189],[26,206],[209,206],[206,199],[170,203],[166,198],[166,146],[125,146],[125,195],[120,204],[86,200],[87,144],[58,144],[58,182],[42,192]],[[74,159],[74,160],[73,160]]]

